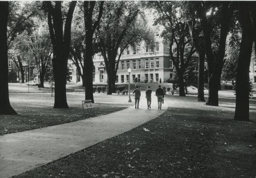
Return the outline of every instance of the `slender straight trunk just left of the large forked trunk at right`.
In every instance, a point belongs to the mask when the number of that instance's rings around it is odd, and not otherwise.
[[[198,102],[205,102],[204,100],[204,58],[205,50],[202,49],[199,53],[198,62]]]

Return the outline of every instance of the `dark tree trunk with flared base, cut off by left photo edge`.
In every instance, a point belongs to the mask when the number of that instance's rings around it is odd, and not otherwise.
[[[7,54],[8,6],[8,2],[0,2],[0,114],[17,114],[9,101]]]

